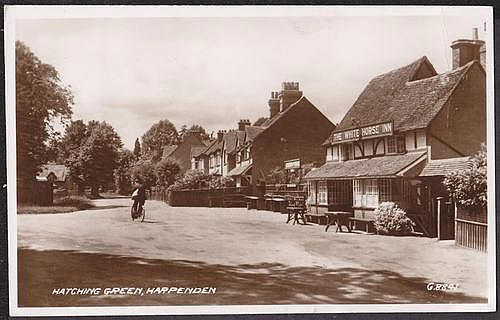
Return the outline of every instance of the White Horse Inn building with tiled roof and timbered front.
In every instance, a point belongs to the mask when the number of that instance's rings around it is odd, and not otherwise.
[[[451,48],[448,72],[437,74],[424,56],[368,83],[323,143],[326,163],[306,175],[315,212],[349,210],[370,220],[381,202],[393,201],[424,234],[453,238],[454,212],[437,221],[437,199],[448,195],[446,172],[466,167],[486,142],[486,75],[477,34]]]

